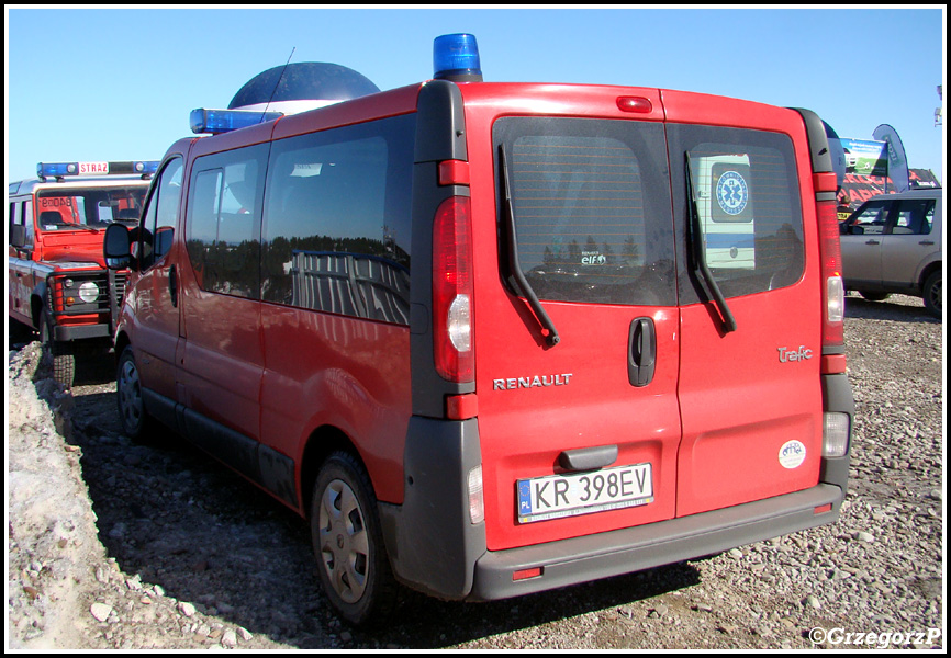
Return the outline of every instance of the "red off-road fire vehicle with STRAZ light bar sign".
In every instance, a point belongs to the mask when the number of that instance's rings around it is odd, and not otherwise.
[[[41,162],[37,178],[9,186],[8,297],[13,329],[40,332],[56,379],[72,385],[81,349],[112,345],[124,272],[102,260],[113,223],[138,223],[157,161]]]

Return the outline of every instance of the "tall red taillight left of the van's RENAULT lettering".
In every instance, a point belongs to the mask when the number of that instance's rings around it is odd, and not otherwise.
[[[433,352],[436,372],[450,382],[474,379],[472,291],[469,197],[450,196],[433,226]]]

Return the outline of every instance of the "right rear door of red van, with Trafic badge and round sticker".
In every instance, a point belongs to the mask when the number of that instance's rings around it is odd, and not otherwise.
[[[663,101],[681,304],[676,515],[685,517],[818,481],[821,286],[801,115],[680,92]],[[707,181],[704,162],[715,163]]]

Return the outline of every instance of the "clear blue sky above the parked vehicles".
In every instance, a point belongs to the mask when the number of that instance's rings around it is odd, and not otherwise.
[[[7,178],[38,161],[160,159],[189,112],[248,79],[333,61],[380,89],[475,35],[486,80],[660,87],[808,107],[842,137],[887,123],[943,180],[944,10],[7,9]]]

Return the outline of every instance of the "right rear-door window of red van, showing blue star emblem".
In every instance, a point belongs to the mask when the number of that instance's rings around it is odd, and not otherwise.
[[[803,212],[795,152],[787,135],[719,126],[668,126],[671,163],[682,169],[674,205],[685,208],[683,263],[701,240],[706,264],[724,296],[792,285],[805,269]],[[685,158],[692,184],[686,185]],[[700,235],[689,227],[689,192]],[[680,202],[679,198],[683,198]],[[685,265],[686,266],[686,265]],[[696,299],[696,276],[680,277],[681,302]],[[693,284],[690,282],[693,281]]]

